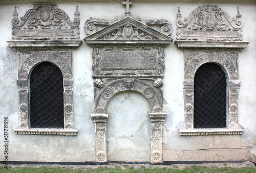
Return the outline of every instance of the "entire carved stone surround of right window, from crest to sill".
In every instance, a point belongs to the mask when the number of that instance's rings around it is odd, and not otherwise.
[[[238,51],[248,42],[242,42],[242,22],[238,10],[237,19],[231,18],[221,8],[202,5],[181,19],[177,15],[176,44],[184,52],[184,116],[185,129],[181,135],[241,134],[238,123]],[[227,77],[227,126],[226,129],[194,129],[194,76],[204,63],[217,63]]]

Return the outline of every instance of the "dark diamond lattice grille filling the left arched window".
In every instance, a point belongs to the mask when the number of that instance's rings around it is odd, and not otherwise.
[[[37,65],[30,77],[32,128],[63,128],[63,78],[50,62]]]

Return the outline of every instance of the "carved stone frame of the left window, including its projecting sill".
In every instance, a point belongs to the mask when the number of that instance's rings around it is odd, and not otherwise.
[[[73,50],[24,50],[17,51],[18,95],[19,95],[19,128],[16,134],[65,135],[76,136],[73,117]],[[61,71],[63,77],[63,116],[64,128],[31,128],[30,126],[30,75],[33,68],[41,62],[51,62]]]

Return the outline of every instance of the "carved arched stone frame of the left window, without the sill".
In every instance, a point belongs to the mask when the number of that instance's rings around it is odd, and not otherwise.
[[[29,74],[40,62],[51,62],[63,75],[64,128],[74,129],[73,122],[73,51],[18,50],[19,129],[30,128]]]

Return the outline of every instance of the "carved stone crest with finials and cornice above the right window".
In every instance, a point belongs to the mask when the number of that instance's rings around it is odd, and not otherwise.
[[[181,48],[245,48],[248,42],[242,41],[241,17],[239,8],[234,18],[218,6],[202,5],[182,19],[179,8],[175,43]]]

